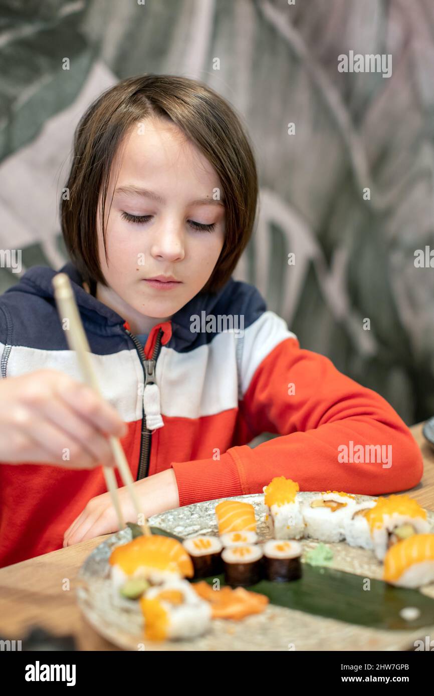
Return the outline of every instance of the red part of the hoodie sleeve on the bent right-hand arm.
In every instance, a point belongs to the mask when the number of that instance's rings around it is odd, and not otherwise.
[[[279,437],[253,449],[230,448],[218,468],[212,459],[173,462],[180,505],[262,493],[281,475],[301,491],[366,495],[403,491],[421,480],[421,452],[392,406],[329,358],[300,349],[296,338],[261,360],[240,411],[252,432]]]

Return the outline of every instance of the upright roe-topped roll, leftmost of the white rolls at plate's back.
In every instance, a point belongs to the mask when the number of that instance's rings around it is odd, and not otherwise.
[[[304,520],[299,485],[284,476],[277,476],[264,489],[264,503],[268,507],[271,531],[275,539],[300,539],[304,537]]]

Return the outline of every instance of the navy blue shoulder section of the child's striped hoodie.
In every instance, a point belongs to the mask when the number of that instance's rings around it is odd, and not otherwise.
[[[8,347],[26,346],[44,350],[67,348],[54,300],[52,278],[57,272],[68,274],[72,281],[79,312],[91,351],[107,355],[134,347],[125,334],[125,319],[91,296],[82,287],[82,278],[68,262],[61,271],[34,266],[17,285],[0,296],[0,342],[6,347],[1,361],[1,377],[8,377]],[[215,294],[196,294],[171,317],[172,335],[167,345],[177,352],[190,351],[215,338],[212,332],[190,330],[194,315],[242,315],[245,328],[265,311],[265,302],[256,287],[230,278]],[[3,315],[3,316],[2,316]]]

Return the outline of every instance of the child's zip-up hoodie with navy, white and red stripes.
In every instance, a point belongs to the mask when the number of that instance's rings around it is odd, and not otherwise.
[[[83,289],[72,263],[61,270],[103,396],[127,423],[121,442],[134,480],[173,467],[180,505],[261,493],[278,475],[300,490],[372,495],[420,481],[421,453],[392,406],[300,349],[254,286],[231,278],[215,294],[197,294],[143,349],[125,319]],[[0,296],[2,378],[51,368],[82,379],[57,314],[55,274],[32,267]],[[250,448],[263,432],[277,437]],[[61,548],[65,530],[105,490],[101,467],[2,462],[0,566]]]

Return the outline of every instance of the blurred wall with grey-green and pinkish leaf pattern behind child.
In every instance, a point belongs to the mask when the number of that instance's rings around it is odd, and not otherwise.
[[[350,65],[371,54],[389,77]],[[431,416],[434,260],[414,253],[434,250],[433,1],[1,0],[0,246],[21,274],[65,261],[75,125],[142,72],[201,79],[247,125],[261,209],[236,277],[408,424]],[[0,292],[19,277],[1,267]]]

